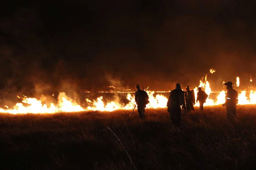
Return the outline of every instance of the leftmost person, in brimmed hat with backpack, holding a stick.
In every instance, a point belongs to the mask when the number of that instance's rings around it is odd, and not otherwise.
[[[136,93],[135,93],[135,102],[137,104],[137,109],[138,109],[138,113],[139,113],[139,117],[141,119],[144,119],[145,118],[145,107],[146,107],[146,104],[149,103],[148,99],[148,95],[147,95],[147,92],[144,91],[144,90],[141,90],[140,89],[140,85],[137,84],[136,85]]]

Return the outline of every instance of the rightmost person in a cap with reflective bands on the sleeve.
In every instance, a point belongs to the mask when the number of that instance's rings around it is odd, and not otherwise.
[[[227,86],[227,94],[226,101],[222,106],[226,106],[227,119],[229,121],[233,121],[237,115],[238,92],[233,89],[232,82],[227,82],[224,85]]]

